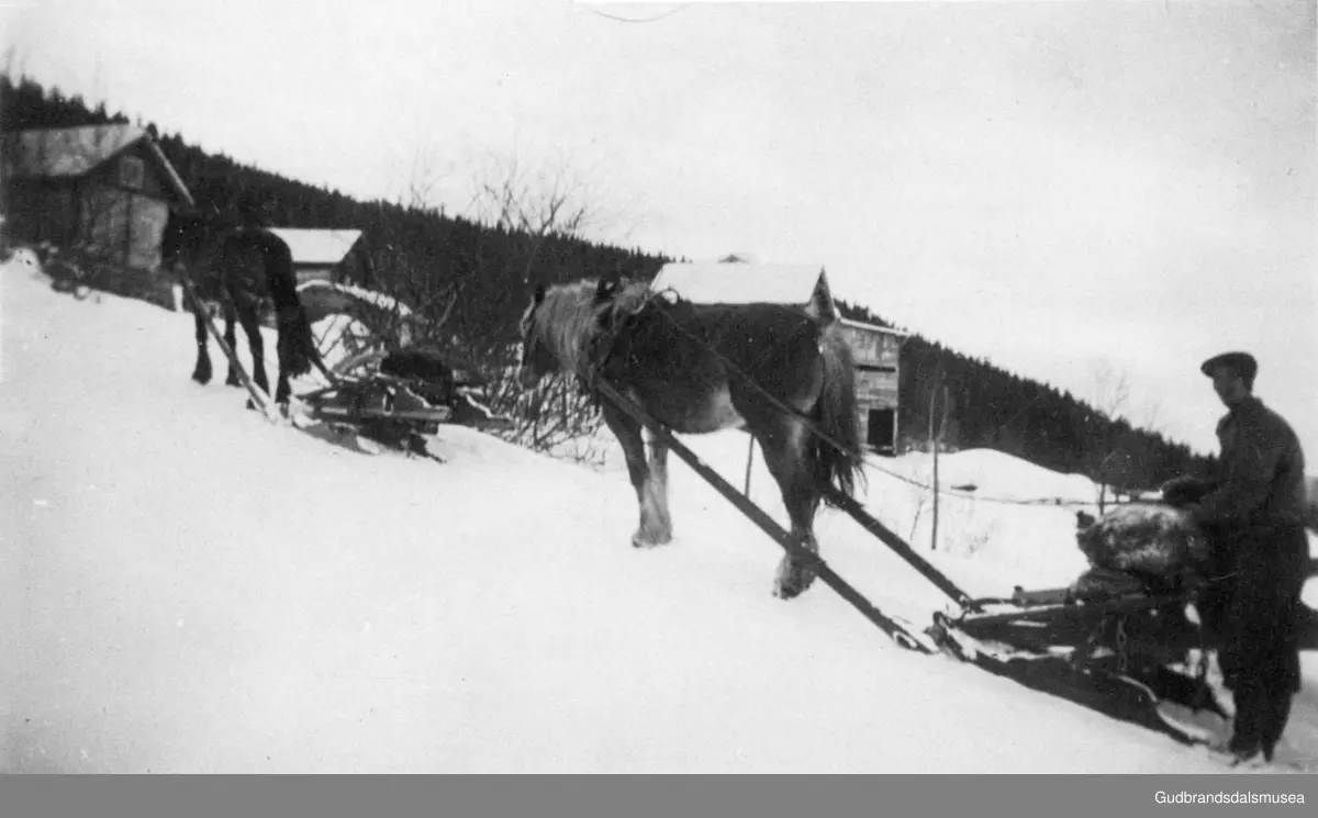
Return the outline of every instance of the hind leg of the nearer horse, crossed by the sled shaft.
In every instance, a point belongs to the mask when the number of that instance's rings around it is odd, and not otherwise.
[[[818,510],[820,491],[815,486],[815,469],[805,445],[805,424],[799,418],[779,415],[751,427],[751,432],[764,453],[764,465],[783,493],[783,504],[792,522],[792,539],[811,555],[817,555],[815,514]],[[813,559],[797,559],[788,553],[779,562],[774,595],[783,599],[797,597],[815,582],[815,577]]]

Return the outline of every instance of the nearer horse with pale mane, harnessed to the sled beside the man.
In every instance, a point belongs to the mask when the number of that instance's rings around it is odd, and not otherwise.
[[[554,371],[585,386],[605,378],[673,432],[750,432],[782,490],[792,536],[813,553],[815,514],[828,499],[821,487],[851,495],[863,476],[850,346],[836,324],[801,308],[693,304],[643,282],[604,279],[538,287],[521,332],[523,386]],[[641,504],[631,544],[663,545],[672,539],[668,445],[651,436],[647,460],[641,423],[608,400],[601,411]],[[813,565],[787,555],[774,593],[789,599],[813,580]]]

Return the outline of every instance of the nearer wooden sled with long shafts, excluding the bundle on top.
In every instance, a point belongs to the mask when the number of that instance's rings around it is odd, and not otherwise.
[[[1185,593],[1151,593],[1135,576],[1110,576],[1107,590],[1073,586],[1016,587],[1003,598],[974,598],[920,556],[863,506],[838,493],[840,511],[903,557],[953,601],[954,613],[934,613],[919,628],[874,606],[818,555],[791,535],[745,494],[706,466],[663,424],[597,381],[600,395],[663,437],[670,448],[742,514],[799,559],[895,644],[924,655],[944,655],[1020,685],[1081,705],[1103,715],[1170,736],[1182,744],[1207,743],[1211,735],[1166,705],[1198,715],[1226,718],[1206,681],[1206,657],[1214,647],[1188,620]],[[1090,572],[1094,573],[1094,572]],[[1119,572],[1116,572],[1119,574]]]

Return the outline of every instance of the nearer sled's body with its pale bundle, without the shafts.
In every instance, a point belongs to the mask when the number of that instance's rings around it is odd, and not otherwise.
[[[1209,543],[1180,510],[1119,506],[1078,512],[1075,543],[1090,568],[1064,587],[973,599],[936,614],[929,636],[996,674],[1144,724],[1203,739],[1165,703],[1226,718],[1206,681],[1213,644],[1190,611]]]

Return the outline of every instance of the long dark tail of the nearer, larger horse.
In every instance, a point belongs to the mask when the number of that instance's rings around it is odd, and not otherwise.
[[[851,346],[836,324],[821,333],[820,354],[824,389],[811,418],[824,433],[811,436],[816,478],[853,497],[857,485],[865,479],[865,452],[857,416]]]

